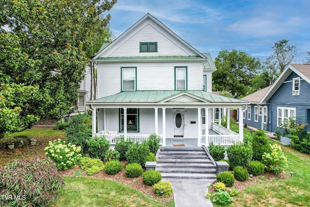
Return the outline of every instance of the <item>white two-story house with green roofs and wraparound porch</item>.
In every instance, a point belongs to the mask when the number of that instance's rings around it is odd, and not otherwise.
[[[97,64],[98,81],[97,99],[88,102],[93,135],[103,131],[99,134],[114,143],[120,134],[141,141],[156,133],[163,146],[176,139],[194,139],[198,146],[243,139],[242,110],[239,134],[227,129],[229,121],[224,128],[213,120],[216,108],[242,109],[247,102],[212,94],[216,67],[210,54],[190,46],[154,16],[143,16],[105,43],[91,61]]]

